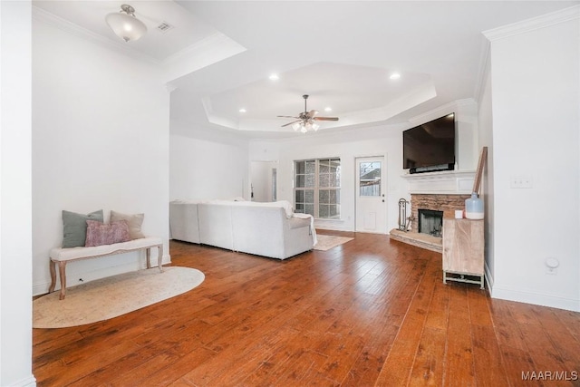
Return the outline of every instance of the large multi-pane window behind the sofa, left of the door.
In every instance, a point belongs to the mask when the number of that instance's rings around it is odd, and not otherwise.
[[[341,160],[295,161],[295,212],[341,218]]]

